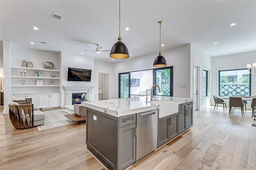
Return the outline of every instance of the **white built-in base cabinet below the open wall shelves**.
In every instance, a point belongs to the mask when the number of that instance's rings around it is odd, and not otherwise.
[[[24,100],[25,98],[32,98],[34,107],[60,107],[61,94],[33,94],[33,95],[13,95],[13,100]]]

